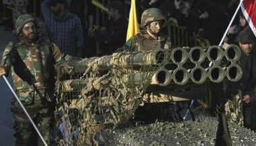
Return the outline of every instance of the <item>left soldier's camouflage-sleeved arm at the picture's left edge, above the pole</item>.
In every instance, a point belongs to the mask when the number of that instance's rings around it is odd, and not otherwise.
[[[13,62],[15,62],[17,52],[13,49],[13,44],[8,44],[3,52],[3,57],[0,64],[0,76],[8,75]]]

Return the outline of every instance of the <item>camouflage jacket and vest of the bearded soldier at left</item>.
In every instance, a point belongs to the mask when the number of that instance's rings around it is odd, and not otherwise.
[[[53,53],[53,55],[51,54]],[[33,85],[38,88],[49,88],[53,64],[61,60],[63,54],[55,44],[44,42],[30,45],[24,42],[8,44],[3,52],[1,66],[7,72],[11,68],[13,88],[26,90]]]

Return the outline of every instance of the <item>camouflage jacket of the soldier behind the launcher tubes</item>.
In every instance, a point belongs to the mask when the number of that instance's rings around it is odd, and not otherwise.
[[[158,38],[152,38],[147,31],[141,30],[133,35],[117,52],[150,51],[158,48],[163,48],[164,50],[172,48],[170,38],[162,33]]]

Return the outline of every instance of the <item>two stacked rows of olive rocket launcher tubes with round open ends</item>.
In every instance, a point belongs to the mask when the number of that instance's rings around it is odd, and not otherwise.
[[[116,53],[100,58],[85,58],[58,67],[62,68],[59,70],[62,74],[70,75],[84,72],[89,66],[94,66],[93,68],[97,70],[109,70],[112,66],[133,69],[160,66],[161,68],[152,77],[151,84],[167,86],[168,84],[184,85],[191,81],[202,84],[206,80],[218,83],[222,82],[225,76],[228,80],[236,82],[243,74],[238,65],[240,57],[241,49],[230,44],[225,50],[221,46],[211,46],[210,48],[174,48],[168,51],[157,49],[152,52]],[[135,84],[140,84],[145,74],[148,72],[135,72],[132,76],[124,75],[124,80],[129,82],[132,78]],[[81,82],[89,79],[63,80],[62,84],[69,90],[75,86],[81,89],[83,86]],[[86,82],[84,82],[85,85]]]

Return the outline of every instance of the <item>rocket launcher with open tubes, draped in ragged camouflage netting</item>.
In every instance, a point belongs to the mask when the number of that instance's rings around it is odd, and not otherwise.
[[[125,127],[143,103],[205,98],[191,94],[192,88],[240,80],[240,56],[240,48],[231,44],[60,62],[55,66],[56,119],[61,125],[56,141],[59,145],[108,143],[106,139],[113,139],[109,133]]]

